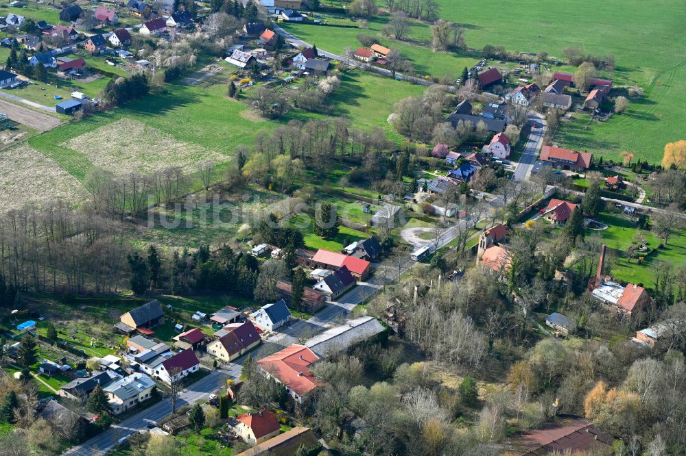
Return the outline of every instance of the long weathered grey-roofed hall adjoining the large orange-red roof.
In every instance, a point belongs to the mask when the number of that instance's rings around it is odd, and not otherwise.
[[[379,320],[370,316],[362,316],[346,321],[343,325],[327,329],[314,338],[305,342],[305,346],[318,357],[335,355],[347,351],[351,346],[369,340],[383,333],[386,328]]]

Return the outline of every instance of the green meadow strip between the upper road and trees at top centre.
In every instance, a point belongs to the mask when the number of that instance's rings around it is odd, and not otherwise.
[[[447,8],[446,8],[447,9]],[[460,10],[462,7],[460,6]],[[330,16],[324,15],[329,23],[334,21]],[[338,55],[345,55],[345,48],[356,49],[360,46],[357,35],[372,35],[379,38],[379,44],[392,47],[400,51],[404,58],[410,60],[414,65],[414,70],[418,75],[429,75],[432,77],[442,77],[448,75],[456,79],[462,73],[462,68],[471,67],[477,62],[472,56],[458,55],[456,53],[431,52],[429,49],[431,40],[430,25],[412,21],[410,33],[405,41],[390,40],[381,37],[381,29],[388,23],[389,16],[379,16],[368,21],[367,29],[362,28],[343,28],[327,27],[309,23],[282,23],[279,24],[283,29],[294,34],[298,38],[317,45],[319,49],[324,49]],[[339,21],[340,22],[340,21]],[[343,21],[346,25],[355,25],[351,21]],[[359,24],[359,22],[357,23]]]

